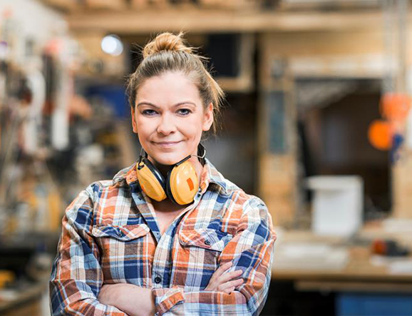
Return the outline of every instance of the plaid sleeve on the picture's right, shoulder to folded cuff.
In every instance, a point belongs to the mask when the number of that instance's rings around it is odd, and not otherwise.
[[[243,271],[243,284],[230,294],[153,288],[156,315],[259,315],[269,290],[274,240],[266,205],[259,198],[248,200],[237,233],[220,255],[220,265],[232,261],[229,271]]]

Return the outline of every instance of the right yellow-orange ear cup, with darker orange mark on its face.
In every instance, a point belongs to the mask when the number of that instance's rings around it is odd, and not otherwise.
[[[180,205],[192,203],[199,188],[195,167],[187,160],[168,172],[166,183],[168,198]]]

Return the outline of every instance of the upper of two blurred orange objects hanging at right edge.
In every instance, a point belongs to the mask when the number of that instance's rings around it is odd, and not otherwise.
[[[388,121],[404,121],[411,108],[411,98],[404,93],[386,93],[381,98],[381,115]]]

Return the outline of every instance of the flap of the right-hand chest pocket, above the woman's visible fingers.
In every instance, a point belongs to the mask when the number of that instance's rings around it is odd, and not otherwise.
[[[196,246],[200,248],[222,251],[232,235],[220,230],[202,228],[197,230],[180,230],[179,241],[184,246]]]

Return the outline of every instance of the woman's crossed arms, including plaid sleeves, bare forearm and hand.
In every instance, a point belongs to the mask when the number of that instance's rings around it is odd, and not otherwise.
[[[105,285],[91,218],[93,201],[85,190],[63,217],[50,280],[53,315],[258,315],[262,310],[275,235],[260,200],[244,205],[237,233],[222,250],[220,267],[209,285],[190,292],[182,287]]]

